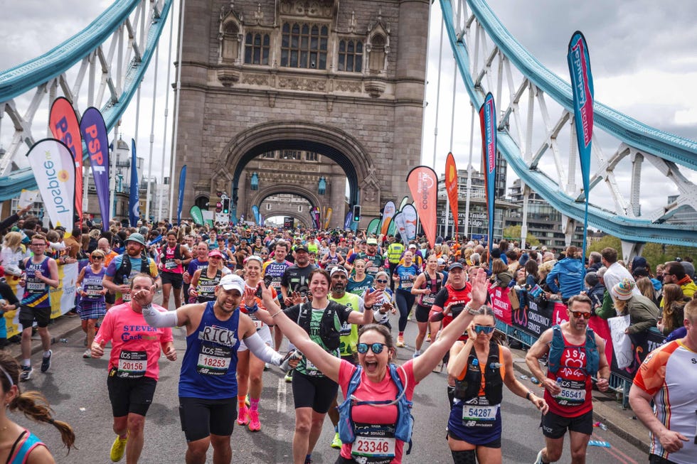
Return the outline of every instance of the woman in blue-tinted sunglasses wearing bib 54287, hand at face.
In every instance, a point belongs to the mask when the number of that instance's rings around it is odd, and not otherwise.
[[[467,326],[467,342],[457,342],[450,351],[448,374],[455,379],[455,390],[447,431],[455,464],[501,463],[504,384],[542,414],[548,410],[544,399],[516,379],[511,350],[492,340],[495,328],[494,311],[481,306]]]

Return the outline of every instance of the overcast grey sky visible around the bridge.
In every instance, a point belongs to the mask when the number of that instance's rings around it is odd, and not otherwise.
[[[3,43],[0,48],[0,69],[11,68],[45,53],[82,30],[111,3],[105,0],[64,0],[61,8],[53,8],[48,7],[44,0],[0,0],[4,14],[3,27],[0,29],[0,40]],[[568,41],[573,31],[582,31],[589,44],[597,101],[658,129],[688,139],[697,139],[697,55],[693,52],[693,44],[697,41],[697,22],[694,21],[694,18],[697,18],[697,2],[491,0],[489,4],[513,36],[563,80],[568,81]],[[178,9],[177,5],[175,15],[178,15]],[[164,38],[167,39],[168,36],[169,27],[164,31]],[[443,171],[445,156],[450,148],[454,73],[452,52],[447,39],[444,42],[440,43],[440,6],[439,2],[435,1],[432,5],[423,162],[428,165],[433,162],[435,108],[438,106],[440,116],[435,150],[435,167],[438,173]],[[443,59],[438,104],[436,90],[440,46]],[[169,90],[169,86],[164,85],[167,51],[166,47],[160,50],[159,94]],[[142,86],[139,122],[139,156],[146,159],[149,155],[153,74],[154,67],[151,66]],[[174,74],[171,75],[170,82],[174,82]],[[458,167],[467,168],[469,102],[462,90],[462,82],[458,82],[457,87],[453,151]],[[166,93],[171,95],[171,91]],[[84,102],[81,106],[84,109]],[[135,131],[134,107],[135,102],[131,104],[129,113],[123,119],[122,132],[128,138],[134,136]],[[40,114],[41,112],[37,114],[37,120],[41,118]],[[153,173],[159,175],[164,97],[158,97],[156,100],[155,114],[157,126],[153,144]],[[173,104],[170,103],[168,136],[171,136],[172,114]],[[3,146],[9,143],[10,135],[9,118],[4,118],[0,133]],[[473,153],[475,167],[479,165],[478,144],[477,139]],[[169,145],[167,151],[169,156]],[[605,153],[605,156],[610,154]],[[627,178],[622,176],[622,172],[618,172],[618,176],[620,179]],[[646,183],[660,182],[661,178],[647,173],[646,180]],[[644,199],[647,202],[647,209],[644,211],[664,205],[671,188],[672,186],[661,186],[660,189],[644,188]]]

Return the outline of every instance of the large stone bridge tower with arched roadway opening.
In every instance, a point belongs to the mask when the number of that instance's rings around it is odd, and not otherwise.
[[[429,4],[187,0],[175,161],[177,173],[187,165],[184,210],[225,191],[248,217],[269,189],[332,207],[331,227],[360,204],[365,227],[385,201],[408,195],[421,158]]]

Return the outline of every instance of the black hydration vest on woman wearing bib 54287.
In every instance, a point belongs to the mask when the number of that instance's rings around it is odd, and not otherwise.
[[[501,404],[504,399],[504,379],[501,377],[501,345],[494,342],[489,342],[489,357],[486,359],[486,367],[484,367],[484,396],[489,401],[490,405]],[[472,369],[476,367],[476,369]],[[467,359],[467,369],[464,374],[464,379],[455,379],[455,398],[462,401],[479,396],[481,389],[481,374],[482,369],[479,365],[479,358],[474,347],[469,352]]]

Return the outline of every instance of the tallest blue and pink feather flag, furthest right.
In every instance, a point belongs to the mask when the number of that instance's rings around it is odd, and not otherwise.
[[[583,178],[585,216],[583,217],[583,256],[585,257],[588,231],[588,196],[590,192],[590,151],[593,139],[593,75],[590,72],[590,55],[585,37],[580,31],[571,36],[568,54],[571,90],[573,92],[574,126],[578,141],[578,156]]]

